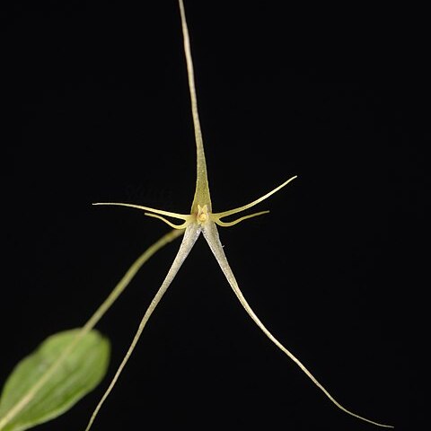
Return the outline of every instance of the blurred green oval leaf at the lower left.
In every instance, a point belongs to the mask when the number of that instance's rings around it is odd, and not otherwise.
[[[78,331],[66,330],[48,337],[30,356],[24,357],[14,367],[4,383],[0,418],[40,379]],[[109,340],[96,330],[87,333],[34,398],[2,431],[20,431],[57,418],[101,382],[109,360]]]

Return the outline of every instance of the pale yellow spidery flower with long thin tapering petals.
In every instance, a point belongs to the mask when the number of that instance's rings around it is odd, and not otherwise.
[[[265,194],[261,198],[258,198],[252,201],[250,204],[244,205],[242,207],[237,207],[228,211],[224,211],[221,213],[212,212],[211,198],[210,198],[208,180],[207,180],[207,163],[205,160],[202,132],[201,132],[200,121],[198,116],[198,100],[197,100],[196,89],[195,89],[193,61],[191,57],[190,44],[189,44],[189,30],[187,27],[184,4],[182,0],[179,0],[179,4],[180,4],[181,26],[182,26],[183,40],[184,40],[184,52],[186,57],[187,72],[188,72],[188,78],[189,78],[191,114],[193,118],[196,149],[197,149],[197,181],[196,181],[195,195],[191,205],[190,214],[178,214],[170,211],[163,211],[161,209],[143,207],[143,206],[139,206],[135,204],[127,204],[127,203],[100,202],[100,203],[94,204],[94,205],[115,205],[115,206],[133,207],[137,209],[142,209],[145,211],[145,216],[152,216],[152,217],[159,218],[163,220],[164,223],[169,224],[174,229],[181,229],[181,230],[185,229],[185,233],[180,245],[180,250],[178,251],[175,259],[173,260],[172,266],[169,269],[168,274],[165,277],[162,286],[159,288],[157,294],[154,296],[152,303],[146,310],[145,315],[139,324],[138,330],[136,331],[135,338],[133,339],[130,347],[128,348],[128,353],[126,354],[123,361],[119,365],[119,369],[115,374],[114,378],[112,379],[109,388],[107,389],[107,391],[105,391],[103,397],[101,398],[101,401],[99,402],[98,406],[94,410],[92,414],[92,418],[90,419],[89,424],[86,427],[85,431],[89,431],[89,429],[92,427],[94,418],[96,418],[99,410],[101,409],[101,405],[110,394],[110,391],[112,390],[113,386],[115,385],[115,383],[119,378],[119,374],[121,374],[124,366],[128,362],[128,358],[130,357],[134,348],[136,347],[137,340],[139,339],[142,333],[142,330],[144,330],[146,321],[148,321],[152,312],[154,312],[155,307],[160,302],[163,294],[166,292],[166,289],[171,285],[173,278],[176,276],[178,270],[180,269],[180,266],[189,255],[189,251],[192,249],[193,245],[197,241],[200,233],[203,233],[205,239],[207,240],[207,243],[211,251],[213,252],[214,256],[216,257],[216,260],[219,263],[220,268],[222,268],[222,271],[224,272],[224,276],[227,278],[227,281],[229,282],[230,286],[233,288],[233,292],[240,300],[242,307],[250,315],[251,319],[259,326],[259,329],[264,332],[264,334],[268,337],[268,339],[270,339],[281,351],[283,351],[287,356],[289,356],[290,359],[292,359],[295,362],[295,364],[301,368],[303,373],[306,374],[312,380],[312,383],[314,383],[339,409],[343,410],[344,412],[346,412],[347,414],[355,418],[359,418],[361,420],[364,420],[365,422],[369,422],[378,427],[392,427],[390,425],[381,424],[381,423],[375,422],[374,420],[359,416],[356,413],[346,409],[339,403],[339,401],[335,400],[332,397],[332,395],[330,395],[330,392],[327,391],[321,385],[321,383],[317,381],[317,379],[305,367],[305,365],[303,365],[303,363],[292,352],[290,352],[286,347],[284,347],[271,334],[271,332],[266,328],[266,326],[259,320],[255,312],[251,310],[251,306],[249,305],[249,303],[247,303],[246,299],[242,295],[242,292],[240,290],[240,287],[238,286],[236,278],[233,276],[233,271],[224,254],[224,249],[218,236],[216,224],[220,226],[232,226],[233,224],[242,222],[242,220],[268,213],[268,211],[261,211],[259,213],[254,213],[249,216],[242,216],[234,220],[233,222],[223,222],[221,220],[221,218],[224,218],[226,216],[232,216],[233,214],[240,213],[246,209],[249,209],[251,207],[254,207],[255,205],[258,205],[260,202],[262,202],[263,200],[269,198],[271,195],[276,193],[279,189],[282,189],[283,187],[285,187],[289,182],[291,182],[292,180],[295,180],[296,176],[290,178],[289,180],[286,180],[283,184],[280,184],[276,189],[269,191],[267,194]],[[182,221],[182,223],[173,224],[170,220],[168,220],[163,216],[179,219]]]

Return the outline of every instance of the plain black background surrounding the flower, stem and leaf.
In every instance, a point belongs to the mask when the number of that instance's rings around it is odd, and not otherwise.
[[[144,3],[3,13],[12,133],[2,145],[0,381],[49,334],[84,324],[168,230],[92,202],[189,211],[195,148],[178,5]],[[208,175],[215,211],[298,175],[260,204],[268,215],[220,229],[243,294],[348,409],[418,429],[427,31],[420,11],[357,7],[186,3]],[[112,341],[110,376],[177,248],[154,256],[98,325]],[[40,429],[84,429],[108,382]],[[203,239],[93,429],[141,427],[377,429],[336,409],[263,336]]]

